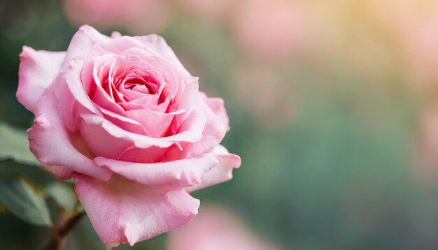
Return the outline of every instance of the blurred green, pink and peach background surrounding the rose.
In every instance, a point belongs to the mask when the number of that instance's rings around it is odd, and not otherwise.
[[[242,159],[193,223],[132,249],[438,249],[436,0],[0,0],[0,120],[31,126],[22,45],[66,50],[80,24],[164,36]],[[0,225],[0,249],[50,238]],[[105,249],[88,219],[66,247]]]

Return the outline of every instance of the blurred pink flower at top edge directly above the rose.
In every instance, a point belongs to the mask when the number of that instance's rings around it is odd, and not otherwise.
[[[63,0],[67,18],[80,26],[120,28],[132,34],[160,33],[172,19],[167,0]]]

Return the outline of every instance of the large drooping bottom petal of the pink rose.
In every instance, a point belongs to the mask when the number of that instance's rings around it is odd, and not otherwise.
[[[197,214],[199,200],[184,189],[145,186],[118,175],[99,182],[75,175],[75,190],[101,241],[133,245],[183,226]]]

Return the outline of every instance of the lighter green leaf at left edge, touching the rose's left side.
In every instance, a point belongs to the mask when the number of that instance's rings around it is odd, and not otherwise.
[[[0,160],[39,165],[29,149],[29,141],[24,131],[17,130],[4,122],[0,122]]]

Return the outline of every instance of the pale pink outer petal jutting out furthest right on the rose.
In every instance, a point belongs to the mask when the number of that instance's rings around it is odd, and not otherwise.
[[[218,145],[213,151],[213,154],[216,156],[216,159],[219,160],[219,165],[212,168],[209,172],[206,172],[200,184],[188,187],[188,192],[204,189],[207,186],[213,186],[221,182],[227,182],[233,177],[233,168],[239,168],[241,165],[240,157],[236,154],[229,154],[227,149],[222,145]]]

